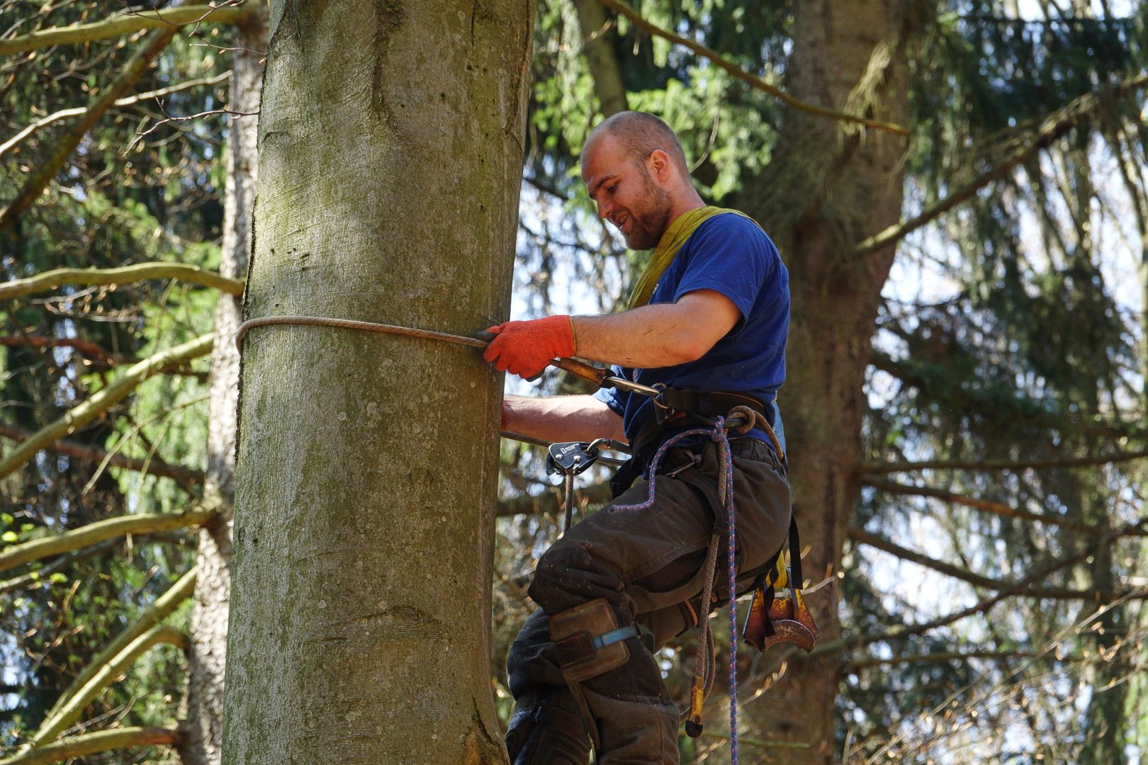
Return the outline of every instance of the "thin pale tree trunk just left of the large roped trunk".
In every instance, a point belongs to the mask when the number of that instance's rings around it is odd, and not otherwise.
[[[239,30],[232,58],[231,104],[238,112],[259,109],[263,56],[267,44],[265,6]],[[227,184],[224,200],[224,276],[242,278],[251,250],[258,118],[231,120]],[[179,756],[184,765],[218,765],[223,747],[223,681],[227,648],[227,601],[231,593],[232,502],[235,485],[235,405],[239,395],[240,300],[219,295],[216,343],[211,352],[208,470],[203,497],[218,509],[217,521],[200,530],[199,577],[188,646],[188,682],[180,721]]]

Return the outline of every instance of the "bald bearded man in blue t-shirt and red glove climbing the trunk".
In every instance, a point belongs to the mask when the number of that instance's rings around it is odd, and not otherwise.
[[[529,594],[541,610],[507,659],[517,700],[507,748],[519,765],[582,765],[591,743],[604,765],[677,763],[678,712],[651,651],[729,600],[728,585],[713,586],[715,562],[731,576],[736,567],[745,592],[773,570],[790,524],[774,434],[789,276],[757,224],[703,203],[676,136],[652,115],[602,123],[583,149],[582,179],[629,247],[657,248],[630,310],[491,327],[486,358],[530,377],[551,359],[577,356],[661,392],[505,400],[510,430],[552,442],[626,439],[633,452],[612,482],[613,504],[538,561]],[[723,568],[723,458],[693,431],[735,407],[748,407],[740,411],[755,424],[730,432],[737,544],[735,565]],[[631,487],[638,475],[646,481]]]

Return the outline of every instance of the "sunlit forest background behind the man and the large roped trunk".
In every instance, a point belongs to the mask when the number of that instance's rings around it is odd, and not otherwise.
[[[267,48],[259,3],[217,5],[0,2],[0,756],[219,758]],[[540,0],[512,315],[620,305],[643,253],[577,154],[604,115],[662,116],[794,283],[779,404],[823,640],[743,649],[743,757],[1142,762],[1145,8],[798,5]],[[559,501],[504,440],[503,725]],[[660,654],[680,701],[691,654]],[[683,762],[728,757],[723,696]]]

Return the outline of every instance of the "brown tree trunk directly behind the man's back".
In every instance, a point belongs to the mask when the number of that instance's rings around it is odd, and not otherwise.
[[[819,0],[794,6],[788,81],[797,97],[905,124],[901,0]],[[792,465],[793,505],[807,578],[841,568],[850,515],[858,501],[864,374],[881,290],[893,247],[858,257],[853,245],[895,224],[901,213],[898,164],[905,140],[791,111],[776,159],[751,181],[744,209],[766,225],[790,272],[792,325],[788,378],[779,396]],[[810,595],[828,642],[840,633],[839,588]],[[840,653],[788,657],[785,676],[750,704],[745,733],[813,749],[771,750],[770,762],[830,763]]]

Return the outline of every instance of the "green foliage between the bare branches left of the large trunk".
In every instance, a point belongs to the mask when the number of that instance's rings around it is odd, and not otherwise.
[[[8,2],[0,30],[34,29],[98,21],[115,10],[99,3]],[[227,69],[232,32],[203,28],[177,34],[157,64],[135,85],[146,92],[217,75]],[[5,101],[0,131],[7,139],[38,117],[83,106],[131,55],[138,37],[60,46],[3,62]],[[215,46],[215,47],[212,47]],[[219,162],[226,122],[219,115],[172,122],[140,135],[166,116],[217,110],[226,85],[196,87],[134,106],[114,107],[84,139],[54,182],[15,229],[0,235],[5,280],[56,267],[111,267],[147,260],[217,267],[222,233]],[[0,204],[10,200],[28,169],[53,150],[65,122],[47,126],[0,159]],[[216,294],[183,284],[145,283],[119,288],[64,287],[0,306],[8,337],[75,338],[102,349],[7,346],[0,349],[6,406],[0,421],[34,430],[106,387],[117,366],[146,358],[209,331]],[[205,366],[153,377],[70,440],[139,459],[202,468],[205,462]],[[5,542],[80,528],[134,512],[188,507],[195,492],[168,478],[53,452],[0,484]],[[63,569],[36,576],[0,606],[6,682],[24,690],[0,703],[0,746],[33,732],[55,695],[91,658],[134,620],[193,560],[181,534],[125,539],[96,548]],[[51,561],[6,572],[36,573]],[[186,607],[185,607],[186,611]],[[187,612],[172,620],[186,626]],[[184,662],[157,648],[127,678],[103,694],[85,719],[110,712],[124,724],[170,724],[183,694]],[[104,723],[106,724],[106,723]],[[92,760],[94,762],[94,760]]]

